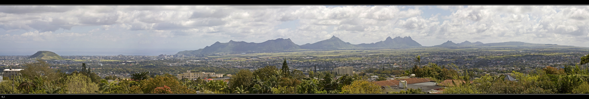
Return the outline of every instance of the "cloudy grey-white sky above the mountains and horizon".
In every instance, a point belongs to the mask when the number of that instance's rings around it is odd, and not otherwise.
[[[159,55],[332,35],[352,44],[521,41],[589,47],[589,6],[0,6],[0,55]]]

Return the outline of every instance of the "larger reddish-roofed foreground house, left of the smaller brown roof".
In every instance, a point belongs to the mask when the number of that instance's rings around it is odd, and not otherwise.
[[[406,87],[400,88],[402,87],[400,84],[401,81],[405,81]],[[397,80],[374,81],[373,83],[379,85],[380,88],[383,89],[383,93],[388,93],[391,91],[407,91],[409,88],[421,88],[423,92],[428,92],[436,88],[443,88],[441,86],[437,86],[436,82],[429,80],[428,78],[405,78]]]

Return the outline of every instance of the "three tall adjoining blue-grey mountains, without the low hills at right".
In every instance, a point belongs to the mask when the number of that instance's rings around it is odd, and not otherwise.
[[[177,54],[206,54],[206,53],[218,53],[218,52],[276,52],[276,51],[296,51],[300,49],[351,49],[351,48],[409,48],[409,47],[422,47],[416,41],[413,41],[411,37],[388,37],[385,41],[380,41],[371,44],[350,44],[350,42],[344,42],[335,36],[323,41],[315,42],[313,44],[307,43],[304,45],[296,45],[289,39],[273,39],[266,42],[254,43],[244,41],[233,41],[230,40],[226,43],[215,42],[213,45],[204,47],[202,49],[192,51],[180,51]]]

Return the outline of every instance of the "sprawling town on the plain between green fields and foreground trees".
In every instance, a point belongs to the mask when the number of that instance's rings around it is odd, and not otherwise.
[[[245,54],[245,53],[243,53]],[[546,54],[546,55],[542,55]],[[553,54],[553,55],[552,55]],[[220,54],[226,55],[226,54]],[[214,58],[194,57],[194,55],[158,55],[158,56],[62,56],[71,60],[47,61],[56,68],[67,73],[80,71],[82,63],[88,64],[92,72],[100,77],[117,76],[130,78],[131,74],[149,71],[150,74],[174,74],[178,75],[187,70],[196,70],[197,67],[225,68],[217,71],[221,74],[236,74],[241,69],[256,71],[266,65],[279,66],[286,59],[292,70],[302,72],[309,71],[333,71],[337,67],[353,67],[352,71],[364,74],[363,79],[379,75],[383,77],[395,77],[403,74],[415,64],[415,56],[421,55],[423,65],[432,62],[434,64],[454,64],[459,69],[476,70],[475,77],[484,74],[506,74],[511,71],[532,72],[546,66],[564,68],[565,65],[574,65],[574,61],[580,61],[580,57],[587,55],[583,50],[539,51],[539,50],[514,50],[514,51],[455,51],[455,52],[422,52],[422,54],[353,54],[336,56],[304,56],[304,57],[246,57],[246,58]],[[519,55],[519,57],[512,57]],[[506,57],[507,56],[507,57]],[[4,69],[21,68],[22,64],[35,62],[26,59],[28,56],[1,56],[0,65]],[[172,69],[163,69],[172,68]],[[229,71],[229,70],[233,71]],[[391,70],[391,72],[375,72],[375,70]],[[461,71],[461,70],[459,70]],[[220,75],[219,77],[223,77]]]

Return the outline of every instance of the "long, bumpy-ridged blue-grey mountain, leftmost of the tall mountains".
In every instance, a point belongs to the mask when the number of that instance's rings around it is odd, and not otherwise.
[[[260,52],[274,52],[274,51],[292,51],[300,49],[299,45],[294,44],[289,39],[272,39],[261,43],[255,42],[244,42],[244,41],[233,41],[230,40],[226,43],[215,42],[211,46],[204,47],[193,51],[180,51],[177,54],[203,54],[203,53],[216,53],[216,52],[248,52],[248,51],[260,51]]]

